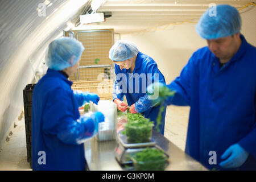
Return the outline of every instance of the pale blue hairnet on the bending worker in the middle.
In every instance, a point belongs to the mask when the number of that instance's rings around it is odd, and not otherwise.
[[[112,61],[125,61],[138,53],[138,48],[133,42],[118,40],[109,50],[109,59]]]

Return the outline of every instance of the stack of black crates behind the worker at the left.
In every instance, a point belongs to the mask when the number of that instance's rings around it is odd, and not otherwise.
[[[31,156],[31,144],[32,144],[32,98],[33,91],[36,84],[28,84],[23,90],[23,102],[24,102],[24,118],[25,118],[25,129],[26,129],[26,144],[27,144],[27,162],[32,166]]]

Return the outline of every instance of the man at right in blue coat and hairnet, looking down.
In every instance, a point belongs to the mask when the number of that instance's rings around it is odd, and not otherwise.
[[[187,154],[209,169],[255,170],[256,48],[240,33],[237,9],[217,5],[216,16],[209,11],[196,25],[208,47],[193,53],[167,85],[175,96],[162,102],[191,107]]]

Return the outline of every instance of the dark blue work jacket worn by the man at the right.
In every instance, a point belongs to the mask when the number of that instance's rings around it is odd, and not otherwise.
[[[222,170],[221,155],[235,143],[249,152],[237,169],[256,169],[256,48],[243,35],[241,39],[241,47],[223,67],[204,47],[168,85],[177,92],[169,104],[191,106],[185,152],[209,169]],[[209,163],[212,151],[216,164]]]

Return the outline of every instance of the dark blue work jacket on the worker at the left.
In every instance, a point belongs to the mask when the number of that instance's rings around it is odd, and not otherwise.
[[[48,69],[32,98],[32,169],[84,170],[84,144],[68,144],[57,135],[80,117],[72,82]]]

